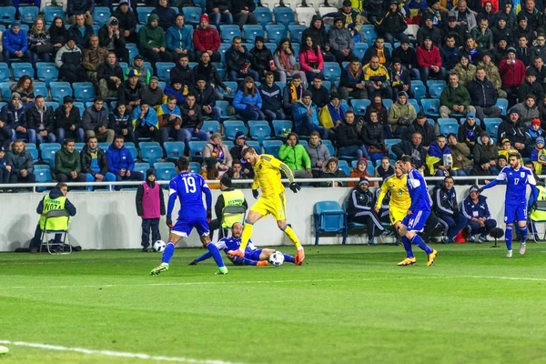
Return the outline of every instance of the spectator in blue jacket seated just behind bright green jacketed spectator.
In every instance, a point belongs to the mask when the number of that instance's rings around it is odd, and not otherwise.
[[[292,108],[294,124],[299,135],[308,136],[318,131],[323,139],[333,139],[333,131],[319,124],[319,109],[311,100],[312,94],[305,91],[298,103]]]

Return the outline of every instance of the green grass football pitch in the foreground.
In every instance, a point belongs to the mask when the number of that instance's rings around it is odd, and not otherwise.
[[[224,277],[187,266],[200,249],[159,277],[157,253],[0,254],[0,341],[64,348],[0,344],[0,364],[546,362],[546,246],[435,248],[430,268],[418,248],[402,268],[401,247],[319,246],[302,267]]]

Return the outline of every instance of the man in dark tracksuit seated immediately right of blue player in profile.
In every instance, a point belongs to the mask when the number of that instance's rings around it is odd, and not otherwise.
[[[457,234],[468,223],[467,218],[460,213],[457,192],[453,188],[453,177],[445,177],[441,186],[434,187],[432,196],[436,215],[448,226],[448,233],[443,242],[453,243]]]

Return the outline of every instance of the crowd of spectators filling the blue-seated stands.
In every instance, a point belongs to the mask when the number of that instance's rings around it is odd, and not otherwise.
[[[30,25],[16,5],[1,37],[0,183],[34,182],[52,143],[61,182],[143,180],[134,163],[149,141],[165,148],[156,161],[182,143],[209,179],[252,177],[240,157],[251,142],[302,178],[385,178],[403,155],[442,177],[492,177],[511,151],[538,173],[546,164],[534,0],[519,12],[511,0],[344,0],[278,33],[250,0],[207,0],[194,21],[190,2],[157,0],[144,17],[136,2],[106,3],[73,0],[47,21],[45,6]],[[320,184],[332,185],[348,186]]]

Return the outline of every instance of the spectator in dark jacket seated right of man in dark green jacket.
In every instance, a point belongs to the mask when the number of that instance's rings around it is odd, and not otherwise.
[[[471,104],[476,108],[476,116],[483,120],[485,116],[501,116],[501,108],[497,103],[497,90],[493,83],[485,76],[485,69],[477,68],[476,79],[469,84]]]

